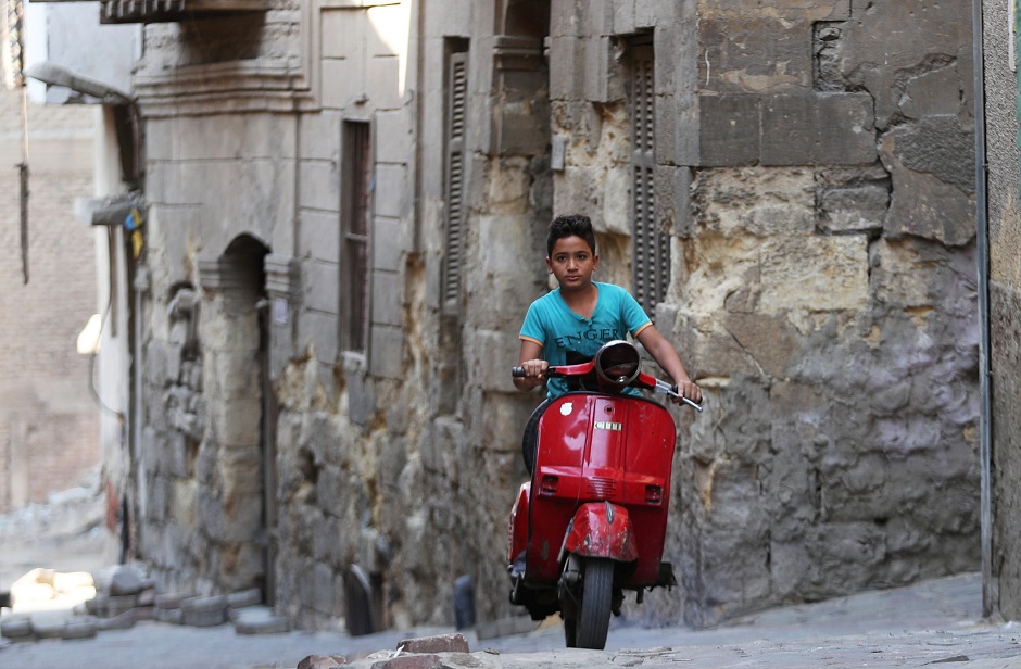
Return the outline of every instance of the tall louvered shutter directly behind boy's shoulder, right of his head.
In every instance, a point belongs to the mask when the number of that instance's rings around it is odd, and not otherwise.
[[[650,315],[667,294],[670,242],[656,225],[656,110],[651,43],[631,49],[631,220],[634,296]]]

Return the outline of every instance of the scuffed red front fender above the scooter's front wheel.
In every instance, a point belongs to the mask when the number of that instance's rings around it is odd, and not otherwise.
[[[564,553],[622,563],[636,560],[638,546],[628,509],[609,502],[582,504],[567,528]]]

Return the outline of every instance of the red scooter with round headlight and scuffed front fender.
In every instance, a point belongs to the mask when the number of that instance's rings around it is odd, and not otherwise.
[[[541,406],[526,429],[526,459],[532,437],[537,445],[531,481],[510,512],[510,603],[533,620],[559,611],[568,647],[606,646],[625,590],[641,603],[646,588],[677,584],[670,563],[660,561],[673,418],[661,404],[621,391],[679,395],[640,367],[627,341],[604,344],[591,362],[550,367],[547,377],[578,379],[581,389]]]

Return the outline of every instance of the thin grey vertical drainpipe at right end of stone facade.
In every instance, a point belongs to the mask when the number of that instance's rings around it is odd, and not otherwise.
[[[993,575],[993,477],[992,477],[992,396],[990,392],[990,238],[988,199],[985,160],[985,67],[982,35],[982,0],[972,0],[972,48],[975,96],[975,217],[976,262],[979,273],[979,453],[982,496],[982,615],[990,617],[998,608]]]

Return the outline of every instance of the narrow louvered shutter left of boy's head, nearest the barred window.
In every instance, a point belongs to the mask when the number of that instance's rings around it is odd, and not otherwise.
[[[464,263],[464,189],[465,189],[465,121],[468,108],[467,53],[452,53],[448,66],[446,165],[444,186],[446,201],[445,256],[443,263],[443,300],[456,305],[461,301],[461,274]]]

